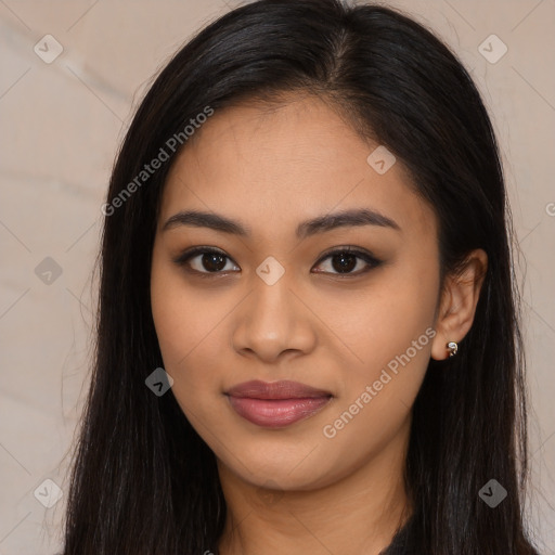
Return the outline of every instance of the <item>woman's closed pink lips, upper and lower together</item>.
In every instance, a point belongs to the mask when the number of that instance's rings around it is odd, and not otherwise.
[[[312,416],[333,397],[298,382],[245,382],[227,392],[235,412],[266,427],[282,427]]]

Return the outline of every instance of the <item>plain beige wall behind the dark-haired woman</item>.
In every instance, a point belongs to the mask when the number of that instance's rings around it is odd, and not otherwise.
[[[555,1],[383,3],[428,23],[451,44],[492,113],[522,254],[528,509],[543,553],[555,554]],[[50,491],[46,479],[62,492],[67,487],[66,454],[88,386],[100,206],[114,154],[153,73],[233,5],[0,0],[0,555],[61,546],[65,496],[46,508],[34,492]],[[493,64],[478,51],[491,34],[508,48]],[[34,51],[44,35],[63,47],[50,64]],[[46,257],[62,270],[50,284],[35,272]]]

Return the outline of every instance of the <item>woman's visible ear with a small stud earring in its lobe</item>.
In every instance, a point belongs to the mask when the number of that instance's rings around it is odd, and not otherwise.
[[[447,359],[447,344],[461,341],[470,330],[487,270],[488,255],[479,248],[466,257],[456,273],[446,276],[431,344],[433,359]]]

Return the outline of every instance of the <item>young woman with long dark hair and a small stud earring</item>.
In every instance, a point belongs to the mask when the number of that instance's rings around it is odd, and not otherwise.
[[[64,555],[537,553],[498,146],[428,30],[232,11],[155,80],[103,212]]]

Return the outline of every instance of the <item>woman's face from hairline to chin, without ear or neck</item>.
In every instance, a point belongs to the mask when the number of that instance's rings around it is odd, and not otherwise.
[[[168,177],[151,285],[165,370],[219,464],[251,485],[315,489],[405,448],[435,334],[437,221],[377,146],[297,98],[216,112]],[[250,380],[301,386],[230,395]]]

